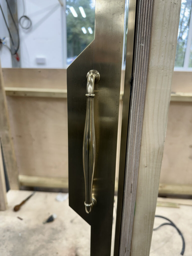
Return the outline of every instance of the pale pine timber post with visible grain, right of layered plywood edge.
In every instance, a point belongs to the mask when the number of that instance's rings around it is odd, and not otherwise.
[[[130,255],[148,256],[158,194],[181,1],[154,1]]]

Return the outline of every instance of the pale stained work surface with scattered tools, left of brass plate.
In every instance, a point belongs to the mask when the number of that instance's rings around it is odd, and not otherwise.
[[[0,212],[0,255],[89,255],[90,226],[68,206],[68,199],[56,200],[58,193],[36,192],[18,212],[12,210],[30,194],[16,190],[7,193],[9,209]],[[51,214],[57,218],[43,224]]]

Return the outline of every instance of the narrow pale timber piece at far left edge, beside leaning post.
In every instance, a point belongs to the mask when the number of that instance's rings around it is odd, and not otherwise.
[[[3,157],[1,151],[1,141],[0,141],[0,210],[7,209],[7,195],[6,195],[6,184],[5,184],[5,174],[3,167]]]

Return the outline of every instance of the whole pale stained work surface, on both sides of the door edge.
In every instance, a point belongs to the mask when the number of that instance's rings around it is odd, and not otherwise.
[[[56,200],[58,193],[36,192],[18,212],[13,211],[30,193],[7,193],[9,208],[0,212],[0,255],[89,256],[90,226],[68,206],[68,198],[60,202]],[[51,214],[57,218],[43,224]],[[192,206],[157,207],[156,214],[170,218],[178,226],[186,241],[184,255],[191,256]],[[155,218],[154,227],[163,222]],[[181,238],[173,227],[164,226],[153,232],[150,256],[180,255],[181,248]]]

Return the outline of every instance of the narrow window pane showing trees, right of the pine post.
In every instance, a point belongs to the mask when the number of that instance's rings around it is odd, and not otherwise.
[[[185,50],[187,46],[187,37],[189,31],[191,4],[191,0],[182,0],[181,3],[177,48],[175,55],[175,67],[183,67],[184,64]]]

